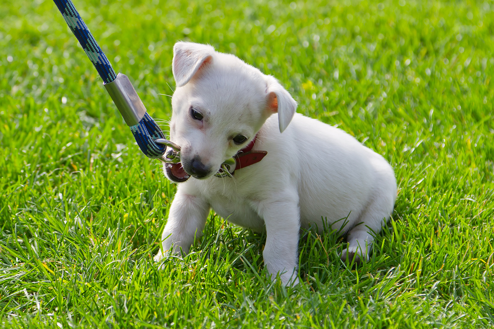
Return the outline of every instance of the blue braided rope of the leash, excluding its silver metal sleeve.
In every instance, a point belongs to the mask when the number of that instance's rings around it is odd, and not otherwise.
[[[117,74],[115,74],[108,58],[82,21],[81,15],[77,12],[72,1],[53,1],[62,13],[72,33],[74,33],[79,43],[81,43],[82,49],[84,49],[87,57],[91,60],[103,81],[105,83],[113,82],[117,78]],[[130,131],[134,135],[137,145],[146,156],[150,158],[161,158],[165,154],[166,145],[157,144],[155,141],[157,139],[164,139],[165,135],[147,112],[139,123],[130,126]]]

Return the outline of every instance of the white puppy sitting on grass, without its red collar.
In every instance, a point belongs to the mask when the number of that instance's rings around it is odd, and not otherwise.
[[[264,264],[287,285],[298,283],[300,227],[323,232],[346,224],[342,258],[369,259],[372,234],[396,199],[393,169],[382,156],[295,113],[297,103],[274,77],[209,45],[177,42],[173,75],[170,140],[181,147],[181,164],[165,164],[168,179],[179,184],[155,260],[188,253],[211,208],[232,223],[266,231]],[[254,138],[252,152],[267,151],[264,158],[257,153],[262,161],[237,165],[233,178],[215,177]]]

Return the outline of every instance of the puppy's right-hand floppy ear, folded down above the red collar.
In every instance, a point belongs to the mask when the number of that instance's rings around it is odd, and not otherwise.
[[[267,110],[270,114],[278,113],[278,125],[283,132],[295,114],[297,102],[273,76],[267,75],[266,82]]]

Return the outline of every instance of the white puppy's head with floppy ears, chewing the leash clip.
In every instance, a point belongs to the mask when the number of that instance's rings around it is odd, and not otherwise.
[[[274,77],[212,46],[177,42],[172,68],[170,140],[181,147],[181,164],[165,165],[173,182],[210,178],[271,114],[283,132],[295,113],[297,103]]]

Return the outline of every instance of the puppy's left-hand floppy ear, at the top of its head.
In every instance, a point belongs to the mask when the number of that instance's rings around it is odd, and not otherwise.
[[[177,42],[173,46],[173,77],[177,87],[185,85],[205,65],[212,61],[214,48],[207,44]]]

